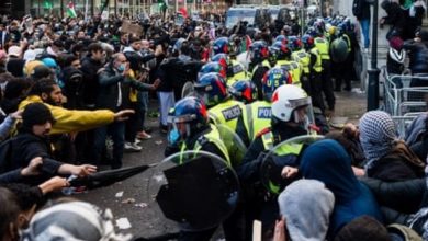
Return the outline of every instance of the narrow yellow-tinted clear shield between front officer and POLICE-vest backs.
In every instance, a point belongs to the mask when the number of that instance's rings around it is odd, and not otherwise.
[[[229,153],[230,162],[233,167],[238,167],[245,153],[247,152],[247,147],[240,137],[228,126],[226,125],[216,125],[219,136],[227,148]]]

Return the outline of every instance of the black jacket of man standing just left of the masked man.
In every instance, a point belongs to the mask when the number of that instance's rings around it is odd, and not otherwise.
[[[98,70],[102,68],[102,62],[93,60],[91,57],[86,57],[81,60],[81,71],[83,73],[83,82],[81,85],[82,102],[85,105],[94,105],[99,89]]]

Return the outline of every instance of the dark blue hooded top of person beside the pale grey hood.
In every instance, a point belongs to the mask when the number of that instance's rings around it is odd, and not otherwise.
[[[305,179],[323,182],[335,195],[330,237],[362,215],[382,220],[373,195],[357,180],[351,168],[351,158],[336,140],[319,140],[307,147],[302,156],[300,171]]]

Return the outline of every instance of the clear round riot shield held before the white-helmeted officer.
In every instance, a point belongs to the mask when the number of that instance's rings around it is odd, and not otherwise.
[[[260,165],[261,183],[272,194],[280,194],[293,179],[283,179],[281,173],[285,165],[297,168],[303,150],[311,144],[324,139],[324,136],[304,135],[290,138],[273,147],[263,158]]]

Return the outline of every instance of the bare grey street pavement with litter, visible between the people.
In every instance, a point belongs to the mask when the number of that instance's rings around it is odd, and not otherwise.
[[[350,122],[357,124],[365,112],[365,94],[356,88],[352,92],[336,92],[336,97],[335,116],[348,117]],[[151,100],[150,107],[151,111],[156,111],[157,102]],[[124,154],[125,167],[158,163],[164,159],[167,140],[166,135],[160,134],[158,129],[158,119],[149,117],[146,124],[154,129],[153,138],[142,141],[140,152]],[[149,182],[149,179],[157,171],[153,168],[121,183],[77,194],[74,197],[88,200],[102,208],[111,208],[115,219],[127,218],[132,227],[120,231],[133,233],[135,238],[176,232],[178,231],[177,225],[164,217],[154,200],[154,193],[150,192],[154,184]],[[123,192],[122,196],[121,192]]]

